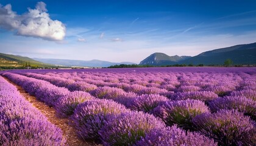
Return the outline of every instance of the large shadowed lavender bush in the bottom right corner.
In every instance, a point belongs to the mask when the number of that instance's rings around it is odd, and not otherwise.
[[[219,145],[254,145],[255,123],[238,111],[221,109],[218,113],[205,113],[194,117],[200,133],[212,137]]]

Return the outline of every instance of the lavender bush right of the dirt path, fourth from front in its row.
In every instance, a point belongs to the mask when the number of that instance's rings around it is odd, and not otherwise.
[[[55,103],[55,109],[58,116],[68,117],[74,113],[77,105],[87,100],[93,100],[94,97],[84,91],[74,91],[60,97]]]

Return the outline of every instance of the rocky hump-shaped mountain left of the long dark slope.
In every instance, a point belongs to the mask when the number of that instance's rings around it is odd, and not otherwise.
[[[177,64],[179,61],[186,60],[190,58],[190,56],[168,56],[163,53],[154,53],[149,55],[149,57],[145,58],[140,62],[140,65],[153,65],[153,66],[162,66],[169,64]]]

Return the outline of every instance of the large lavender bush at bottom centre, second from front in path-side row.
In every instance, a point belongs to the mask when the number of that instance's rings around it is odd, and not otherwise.
[[[151,114],[130,111],[111,117],[99,135],[104,145],[133,145],[154,128],[165,128],[165,123]]]

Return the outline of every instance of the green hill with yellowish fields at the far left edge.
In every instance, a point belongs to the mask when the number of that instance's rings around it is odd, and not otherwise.
[[[32,68],[54,68],[52,64],[41,63],[29,57],[22,57],[19,55],[1,54],[0,53],[0,67],[2,68],[24,68],[30,66]]]

